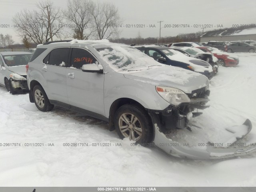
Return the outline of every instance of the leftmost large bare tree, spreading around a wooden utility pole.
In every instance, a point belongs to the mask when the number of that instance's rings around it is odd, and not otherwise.
[[[48,12],[46,6],[48,6]],[[51,36],[60,38],[61,29],[64,27],[60,8],[54,7],[50,1],[40,2],[37,7],[39,10],[25,9],[12,18],[18,36],[22,38],[26,36],[29,41],[36,44],[48,42]]]

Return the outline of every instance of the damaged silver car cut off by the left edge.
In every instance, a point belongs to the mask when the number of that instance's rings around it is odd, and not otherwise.
[[[32,53],[0,52],[0,85],[14,94],[28,90],[26,64]]]

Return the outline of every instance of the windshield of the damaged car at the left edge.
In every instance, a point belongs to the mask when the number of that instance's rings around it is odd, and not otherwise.
[[[4,57],[4,62],[8,66],[19,66],[28,64],[32,54],[18,54],[18,55],[6,55]]]

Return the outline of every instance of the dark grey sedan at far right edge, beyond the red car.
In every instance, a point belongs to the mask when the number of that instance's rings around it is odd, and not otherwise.
[[[249,52],[254,53],[256,46],[250,45],[248,43],[232,43],[225,47],[225,51],[228,53],[233,52]]]

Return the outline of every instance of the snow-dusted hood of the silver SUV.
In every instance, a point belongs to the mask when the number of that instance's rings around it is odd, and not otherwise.
[[[209,84],[206,76],[174,66],[161,66],[138,72],[124,74],[125,78],[152,84],[154,86],[168,86],[191,93]]]

